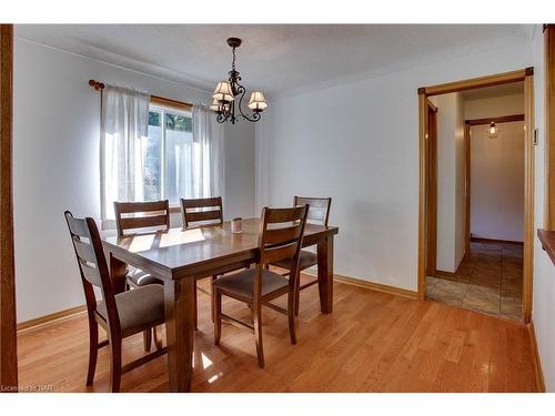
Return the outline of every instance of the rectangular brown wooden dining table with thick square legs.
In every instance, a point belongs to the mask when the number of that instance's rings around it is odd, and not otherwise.
[[[194,282],[249,267],[256,261],[259,219],[242,220],[242,232],[230,223],[198,229],[170,229],[125,236],[104,236],[110,275],[117,293],[125,290],[128,264],[151,273],[164,285],[169,388],[189,392],[193,375],[195,332]],[[306,224],[303,246],[316,245],[317,286],[322,313],[333,310],[333,239],[336,226]]]

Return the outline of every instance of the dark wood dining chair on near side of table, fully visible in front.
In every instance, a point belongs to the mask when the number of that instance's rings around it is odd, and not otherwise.
[[[295,337],[295,293],[299,284],[299,255],[309,213],[309,205],[289,209],[262,210],[259,230],[259,256],[254,267],[224,275],[212,283],[214,308],[214,344],[220,344],[222,318],[231,324],[239,324],[254,333],[259,366],[264,367],[262,347],[262,305],[287,315],[291,344]],[[287,260],[290,277],[266,270],[270,263]],[[251,323],[244,323],[222,313],[222,295],[246,303],[251,307]],[[271,301],[287,295],[287,308],[284,310]]]

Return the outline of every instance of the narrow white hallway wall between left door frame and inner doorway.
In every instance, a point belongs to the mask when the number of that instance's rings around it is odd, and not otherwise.
[[[437,106],[437,270],[454,273],[464,256],[465,149],[460,93],[433,97]]]

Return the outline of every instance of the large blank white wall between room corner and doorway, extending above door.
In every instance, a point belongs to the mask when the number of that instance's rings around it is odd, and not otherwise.
[[[256,128],[256,202],[333,197],[335,273],[416,290],[418,87],[532,64],[529,42],[273,99]]]

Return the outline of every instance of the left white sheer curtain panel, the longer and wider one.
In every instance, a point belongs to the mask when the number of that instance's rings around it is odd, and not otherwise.
[[[107,85],[102,91],[100,189],[102,223],[114,219],[113,201],[142,201],[150,95]],[[110,225],[107,225],[110,227]]]

